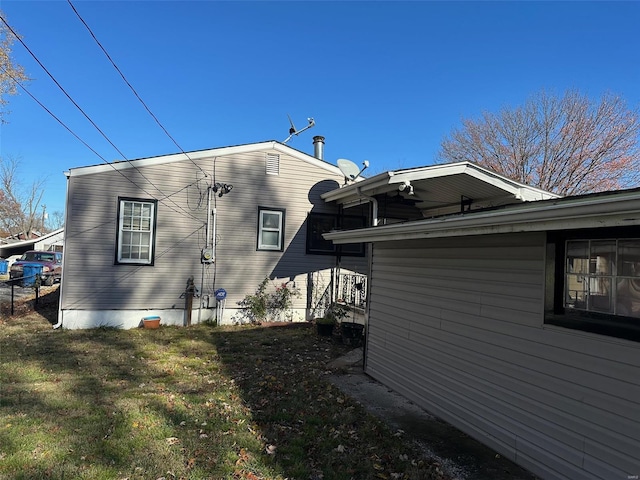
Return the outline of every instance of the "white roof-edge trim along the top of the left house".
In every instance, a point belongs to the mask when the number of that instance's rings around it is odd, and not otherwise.
[[[269,140],[269,141],[259,142],[259,143],[248,143],[244,145],[235,145],[235,146],[228,146],[228,147],[221,147],[221,148],[212,148],[208,150],[197,150],[197,151],[186,152],[186,153],[174,153],[170,155],[161,155],[156,157],[138,158],[135,160],[122,160],[122,161],[117,161],[112,163],[102,163],[98,165],[90,165],[85,167],[75,167],[65,172],[65,175],[67,177],[76,177],[80,175],[89,175],[93,173],[110,172],[113,170],[128,170],[130,168],[140,168],[140,167],[145,167],[149,165],[161,165],[166,163],[181,162],[185,160],[189,161],[189,159],[199,160],[202,158],[224,157],[227,155],[252,153],[252,152],[260,152],[260,151],[264,151],[264,152],[273,151],[275,153],[290,155],[294,158],[302,160],[303,162],[323,168],[331,173],[342,175],[340,173],[340,169],[338,169],[337,166],[329,162],[326,162],[325,160],[320,160],[319,158],[316,158],[313,155],[309,155],[307,153],[301,152],[300,150],[296,150],[295,148],[289,147],[288,145],[285,145],[284,143],[278,142],[276,140]]]

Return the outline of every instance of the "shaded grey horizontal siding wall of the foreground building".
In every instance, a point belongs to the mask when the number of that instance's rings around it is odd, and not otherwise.
[[[634,478],[640,344],[544,326],[544,245],[376,243],[366,372],[542,478]]]

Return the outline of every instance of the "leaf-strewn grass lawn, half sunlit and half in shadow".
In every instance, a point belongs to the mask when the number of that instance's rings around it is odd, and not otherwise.
[[[49,296],[0,320],[1,479],[444,478],[306,324],[54,331]]]

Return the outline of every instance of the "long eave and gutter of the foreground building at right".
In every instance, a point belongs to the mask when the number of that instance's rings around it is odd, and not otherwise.
[[[331,232],[324,238],[343,244],[634,225],[640,225],[640,188]]]

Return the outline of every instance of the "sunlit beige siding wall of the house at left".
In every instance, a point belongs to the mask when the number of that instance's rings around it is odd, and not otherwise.
[[[331,211],[319,196],[336,188],[342,177],[282,153],[280,175],[267,175],[266,151],[196,160],[209,175],[207,179],[188,159],[119,172],[71,175],[61,297],[63,326],[134,327],[144,313],[182,324],[181,295],[187,279],[193,276],[196,286],[201,286],[206,185],[213,181],[232,184],[233,190],[222,198],[216,196],[215,202],[212,199],[217,211],[217,250],[215,266],[205,266],[204,293],[211,298],[209,305],[215,305],[214,289],[224,288],[228,297],[223,321],[229,322],[237,302],[253,293],[265,277],[282,279],[278,282],[291,279],[301,290],[294,308],[297,317],[304,319],[307,273],[335,264],[334,257],[305,254],[304,222],[310,211]],[[153,266],[114,265],[118,197],[158,200]],[[258,206],[286,209],[284,252],[256,250]],[[364,262],[355,259],[352,263]],[[198,306],[199,299],[194,299],[194,308]],[[213,310],[203,313],[206,318]],[[192,320],[197,318],[194,312]]]

